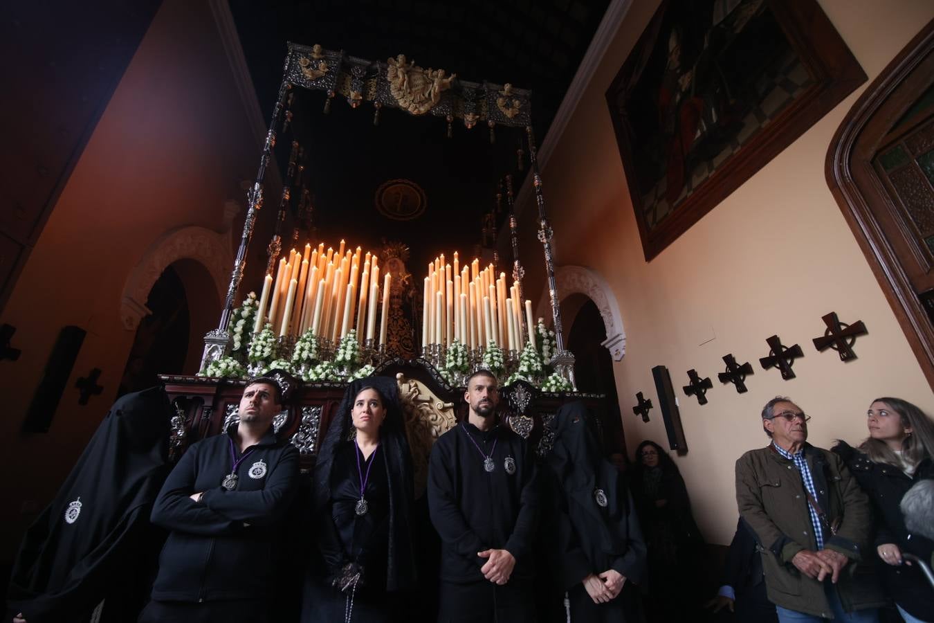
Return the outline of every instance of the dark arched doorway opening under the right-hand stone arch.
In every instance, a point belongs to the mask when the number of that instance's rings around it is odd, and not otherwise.
[[[568,332],[568,349],[574,354],[574,377],[579,391],[606,394],[609,417],[603,422],[603,449],[606,455],[626,454],[613,357],[601,345],[606,340],[606,327],[597,304],[583,294],[573,294],[561,302],[561,311],[577,307]]]

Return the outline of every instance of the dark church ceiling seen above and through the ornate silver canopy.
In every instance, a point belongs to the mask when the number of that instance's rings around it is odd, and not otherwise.
[[[607,5],[607,0],[230,2],[266,118],[275,103],[286,42],[292,41],[383,63],[405,54],[419,66],[443,68],[465,80],[530,89],[539,144]],[[498,126],[490,144],[482,124],[468,130],[455,120],[448,138],[444,118],[383,109],[375,126],[370,104],[352,109],[338,96],[323,114],[324,102],[322,92],[299,92],[293,103],[317,237],[336,243],[344,236],[368,248],[384,237],[401,241],[412,248],[409,269],[416,275],[439,252],[473,253],[483,214],[495,202],[497,180],[514,175],[518,191],[528,170],[517,171],[523,133],[516,129]],[[283,138],[288,145],[292,137]],[[280,167],[288,161],[283,149],[278,146]],[[522,149],[528,150],[524,141]],[[272,200],[267,205],[276,203]]]

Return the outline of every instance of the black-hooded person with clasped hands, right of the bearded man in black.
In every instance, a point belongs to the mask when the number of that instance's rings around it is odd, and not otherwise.
[[[553,539],[554,576],[568,594],[570,620],[641,620],[633,585],[644,581],[645,544],[626,483],[603,458],[583,403],[561,406],[554,429],[544,470],[550,502],[546,531]]]

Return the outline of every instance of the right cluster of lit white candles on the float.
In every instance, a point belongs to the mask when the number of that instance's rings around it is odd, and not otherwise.
[[[480,270],[479,260],[460,266],[458,252],[453,265],[444,254],[428,264],[424,281],[421,322],[423,346],[450,345],[454,340],[470,347],[487,347],[490,341],[503,350],[521,350],[526,341],[535,346],[531,301],[523,306],[518,284],[508,286],[506,274],[496,276],[493,264]]]

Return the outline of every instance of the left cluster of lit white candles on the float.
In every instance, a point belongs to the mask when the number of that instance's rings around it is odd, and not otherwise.
[[[392,276],[386,273],[380,345],[387,339],[391,283]],[[288,260],[279,260],[275,280],[266,275],[253,333],[269,322],[279,336],[299,336],[311,329],[318,337],[337,342],[351,329],[361,337],[365,326],[365,339],[375,340],[379,296],[379,259],[375,253],[367,251],[361,256],[360,247],[347,249],[344,240],[336,252],[331,247],[325,249],[324,243],[318,248],[309,243],[304,252],[293,248]]]

